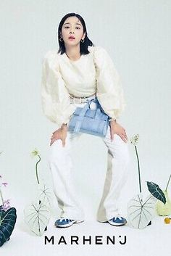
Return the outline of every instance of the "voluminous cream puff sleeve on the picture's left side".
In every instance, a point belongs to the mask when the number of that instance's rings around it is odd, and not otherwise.
[[[70,96],[59,72],[56,51],[48,51],[43,56],[41,76],[41,102],[43,113],[57,125],[68,123],[74,112]]]

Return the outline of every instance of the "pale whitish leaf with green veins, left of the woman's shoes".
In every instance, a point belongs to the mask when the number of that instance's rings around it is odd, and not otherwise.
[[[25,207],[25,222],[37,236],[42,236],[50,220],[49,207],[42,202],[35,202]]]

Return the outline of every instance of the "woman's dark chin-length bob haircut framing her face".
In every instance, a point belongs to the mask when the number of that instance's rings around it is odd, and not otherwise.
[[[83,25],[83,33],[86,32],[84,42],[80,43],[80,54],[89,54],[90,51],[88,51],[88,46],[94,46],[94,45],[93,45],[92,41],[87,36],[86,23],[83,20],[83,17],[76,14],[75,12],[71,12],[71,13],[68,13],[67,15],[64,15],[64,17],[62,17],[62,20],[59,23],[59,27],[58,27],[59,50],[58,50],[58,53],[64,54],[64,52],[65,52],[64,41],[60,41],[59,38],[60,38],[60,34],[62,33],[62,25],[64,24],[64,21],[67,20],[68,17],[72,17],[72,16],[78,17],[78,20],[80,20],[81,24]]]

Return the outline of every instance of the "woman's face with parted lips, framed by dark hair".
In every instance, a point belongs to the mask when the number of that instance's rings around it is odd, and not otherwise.
[[[80,44],[80,40],[84,39],[86,33],[83,33],[83,25],[78,17],[68,17],[62,25],[61,37],[64,40],[65,46],[75,46]]]

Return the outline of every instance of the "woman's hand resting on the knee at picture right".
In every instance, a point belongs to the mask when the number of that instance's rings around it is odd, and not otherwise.
[[[114,134],[117,134],[120,136],[120,138],[126,143],[128,141],[127,134],[124,128],[122,128],[119,123],[116,122],[116,120],[112,120],[110,122],[110,136],[111,140],[114,139]]]

